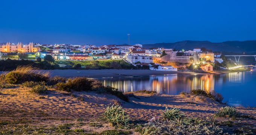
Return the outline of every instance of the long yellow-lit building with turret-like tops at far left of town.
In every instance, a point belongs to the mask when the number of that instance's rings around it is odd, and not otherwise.
[[[11,44],[9,42],[0,48],[1,52],[37,52],[38,50],[39,48],[35,47],[33,42],[29,43],[28,45],[23,45],[22,43]]]

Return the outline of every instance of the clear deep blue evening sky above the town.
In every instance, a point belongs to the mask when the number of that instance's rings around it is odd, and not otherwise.
[[[0,0],[0,43],[256,39],[256,0]]]

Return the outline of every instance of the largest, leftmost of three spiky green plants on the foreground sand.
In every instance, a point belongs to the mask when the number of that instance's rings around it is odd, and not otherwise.
[[[108,106],[103,114],[103,118],[107,120],[110,126],[127,126],[129,124],[129,115],[119,105]]]

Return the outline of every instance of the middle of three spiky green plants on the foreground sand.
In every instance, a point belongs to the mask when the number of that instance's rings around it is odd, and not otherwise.
[[[162,110],[163,111],[163,110]],[[166,120],[174,120],[175,118],[181,118],[184,114],[180,113],[180,109],[177,108],[165,108],[165,111],[163,111],[162,117]]]

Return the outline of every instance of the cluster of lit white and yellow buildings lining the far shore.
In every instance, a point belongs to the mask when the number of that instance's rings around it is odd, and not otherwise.
[[[141,44],[135,45],[69,45],[69,44],[40,44],[30,42],[5,43],[0,45],[0,58],[19,58],[8,57],[8,55],[26,54],[28,59],[44,58],[51,55],[55,60],[120,60],[123,59],[133,65],[151,65],[161,62],[178,62],[198,64],[202,60],[222,63],[221,54],[213,52],[203,52],[200,48],[193,50],[176,51],[172,48],[143,48]],[[23,58],[24,59],[24,58]],[[208,65],[209,66],[209,65]],[[152,70],[169,70],[177,68],[172,66],[161,66],[151,68]],[[212,68],[203,67],[202,69],[212,71]]]

